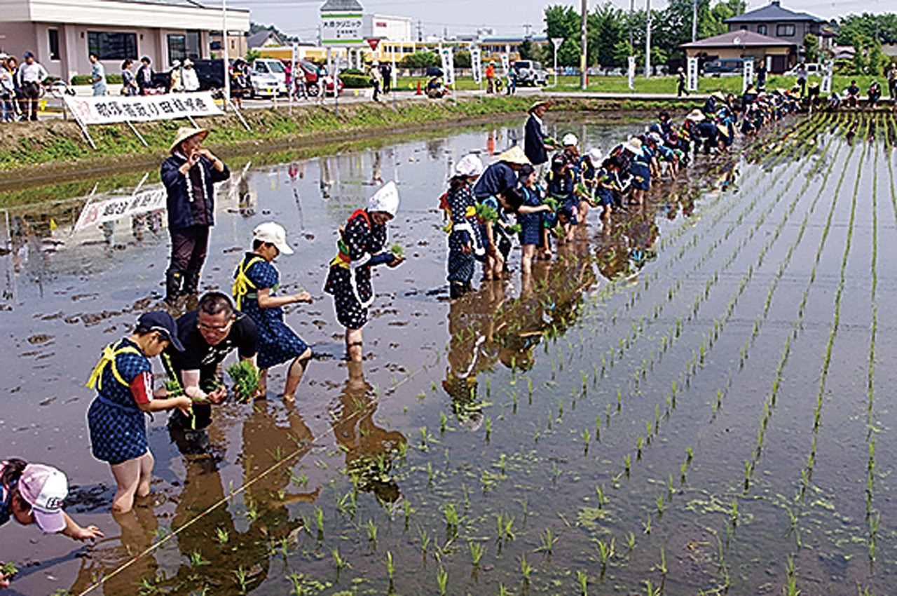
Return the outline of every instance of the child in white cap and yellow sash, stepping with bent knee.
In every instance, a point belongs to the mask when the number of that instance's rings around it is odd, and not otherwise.
[[[280,273],[272,264],[278,255],[292,255],[286,232],[279,223],[260,223],[252,231],[252,252],[234,271],[233,296],[237,309],[255,321],[258,335],[259,394],[267,390],[268,369],[289,362],[290,370],[283,389],[283,401],[295,401],[296,388],[311,358],[311,348],[283,322],[283,306],[296,302],[311,303],[311,294],[275,295]]]

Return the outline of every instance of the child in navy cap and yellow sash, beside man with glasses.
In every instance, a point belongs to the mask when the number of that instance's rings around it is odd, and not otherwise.
[[[87,386],[97,397],[87,410],[93,457],[109,463],[118,490],[112,498],[112,513],[127,513],[135,496],[150,494],[152,458],[146,439],[145,413],[178,408],[189,412],[186,396],[169,398],[165,388],[152,390],[150,358],[171,345],[181,351],[178,325],[168,312],[141,315],[130,336],[103,348]]]

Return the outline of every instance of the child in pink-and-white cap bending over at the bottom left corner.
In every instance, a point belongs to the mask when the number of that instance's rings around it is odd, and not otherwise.
[[[22,525],[34,523],[46,534],[102,538],[99,528],[83,528],[62,510],[67,495],[68,480],[58,469],[16,458],[0,461],[0,525],[14,518]],[[8,588],[9,580],[0,574],[0,588]]]

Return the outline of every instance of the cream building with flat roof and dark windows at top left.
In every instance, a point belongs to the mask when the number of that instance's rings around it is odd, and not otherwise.
[[[249,11],[228,9],[228,31],[248,31]],[[106,73],[148,56],[156,70],[172,60],[209,57],[209,31],[222,11],[192,0],[0,0],[0,50],[30,50],[49,74],[71,80],[90,74],[89,52]]]

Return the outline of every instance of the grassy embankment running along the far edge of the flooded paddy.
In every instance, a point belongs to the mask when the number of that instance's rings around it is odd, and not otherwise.
[[[251,130],[232,116],[200,118],[200,126],[212,129],[207,145],[225,154],[286,150],[301,146],[333,145],[371,136],[405,135],[427,127],[458,122],[476,124],[493,115],[526,113],[533,97],[478,97],[463,101],[400,101],[397,110],[390,104],[349,103],[339,107],[286,107],[247,110]],[[667,101],[597,101],[570,99],[555,101],[556,110],[579,112],[631,112],[671,107]],[[681,105],[681,104],[680,104]],[[4,128],[0,139],[0,171],[27,169],[30,180],[73,178],[155,163],[167,153],[171,139],[183,121],[162,121],[137,125],[149,146],[142,145],[126,125],[91,127],[97,145],[94,151],[72,121],[46,120],[13,124]],[[327,153],[325,151],[324,153]],[[11,180],[7,177],[7,180]],[[8,185],[7,185],[8,186]]]

